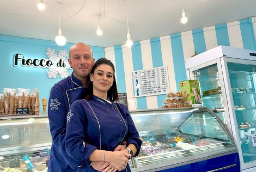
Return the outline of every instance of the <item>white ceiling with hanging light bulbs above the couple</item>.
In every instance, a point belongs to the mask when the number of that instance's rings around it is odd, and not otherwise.
[[[83,2],[83,0],[58,0],[59,4],[57,0],[51,1],[60,18],[75,14],[79,8],[70,9]],[[51,1],[44,0],[46,5],[44,11],[39,11],[37,8],[39,0],[1,1],[0,34],[54,40],[58,35],[59,22]],[[188,17],[186,24],[180,23],[182,5]],[[100,47],[125,44],[126,10],[131,39],[140,41],[256,16],[256,1],[86,0],[79,13],[70,19],[61,20],[63,35],[70,43],[85,42]],[[103,18],[103,21],[100,21],[102,36],[96,35],[98,13],[101,13]]]

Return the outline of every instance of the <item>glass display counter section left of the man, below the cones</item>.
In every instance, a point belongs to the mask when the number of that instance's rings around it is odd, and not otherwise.
[[[0,171],[47,171],[48,122],[47,115],[0,116]]]

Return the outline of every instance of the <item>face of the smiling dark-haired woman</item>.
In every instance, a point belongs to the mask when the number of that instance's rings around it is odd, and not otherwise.
[[[103,93],[109,90],[114,81],[114,71],[111,66],[107,64],[101,64],[96,67],[93,75],[90,76],[90,80],[93,81],[93,94]]]

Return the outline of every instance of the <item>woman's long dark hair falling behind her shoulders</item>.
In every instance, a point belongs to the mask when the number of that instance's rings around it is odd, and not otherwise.
[[[102,65],[102,64],[106,64],[112,67],[113,72],[115,73],[115,67],[113,65],[113,63],[111,62],[111,60],[108,60],[106,58],[100,58],[99,60],[97,60],[95,62],[95,64],[93,65],[93,69],[90,72],[90,75],[94,74],[95,69]],[[115,82],[115,75],[113,73],[113,85],[109,88],[109,90],[107,91],[107,98],[110,101],[117,101],[118,100],[118,92],[117,92],[117,82]],[[87,87],[87,95],[86,95],[86,100],[91,100],[93,97],[93,82],[90,81],[90,76],[88,77],[88,81],[89,85]]]

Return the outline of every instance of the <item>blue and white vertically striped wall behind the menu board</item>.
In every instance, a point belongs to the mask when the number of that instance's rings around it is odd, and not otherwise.
[[[166,95],[132,97],[131,72],[167,66],[170,90],[186,79],[185,60],[219,45],[256,50],[256,17],[134,42],[132,47],[105,48],[116,67],[119,93],[127,93],[138,109],[161,108]]]

